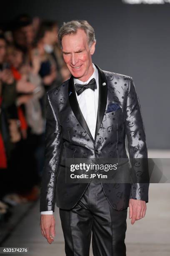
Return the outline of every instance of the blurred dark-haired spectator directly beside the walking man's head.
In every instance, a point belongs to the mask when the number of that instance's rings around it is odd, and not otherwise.
[[[57,22],[46,20],[40,24],[36,38],[37,48],[35,51],[37,55],[40,54],[42,59],[40,75],[44,85],[50,88],[60,85],[70,77],[57,42],[57,33]]]

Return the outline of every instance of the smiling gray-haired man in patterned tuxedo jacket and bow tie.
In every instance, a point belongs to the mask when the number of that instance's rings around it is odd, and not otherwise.
[[[132,77],[92,63],[95,33],[85,20],[64,23],[58,34],[71,77],[47,92],[45,166],[40,228],[52,243],[55,203],[67,256],[125,256],[127,209],[131,223],[145,216],[148,183],[66,183],[65,159],[147,159],[145,131]],[[127,161],[125,163],[127,166]],[[144,172],[145,170],[143,170]]]

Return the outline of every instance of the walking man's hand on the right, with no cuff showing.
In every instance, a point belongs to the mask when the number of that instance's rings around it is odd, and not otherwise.
[[[131,224],[135,223],[135,220],[140,220],[145,217],[146,213],[146,202],[142,200],[129,200],[129,218],[131,220]]]

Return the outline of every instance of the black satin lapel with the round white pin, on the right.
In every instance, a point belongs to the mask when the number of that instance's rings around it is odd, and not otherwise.
[[[95,130],[95,139],[100,129],[102,119],[105,114],[107,104],[107,79],[104,72],[95,64],[99,74],[99,98],[98,98],[98,110],[97,110],[97,122]]]

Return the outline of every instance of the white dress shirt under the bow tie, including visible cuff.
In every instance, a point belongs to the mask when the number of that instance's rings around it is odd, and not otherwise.
[[[82,82],[77,78],[74,78],[74,84],[87,84],[90,82],[92,78],[95,78],[97,89],[94,91],[90,88],[84,90],[80,95],[77,95],[76,97],[77,101],[80,107],[80,110],[82,112],[82,115],[85,118],[85,121],[88,125],[88,128],[90,130],[90,133],[92,134],[92,137],[95,139],[95,128],[96,128],[96,121],[97,121],[97,109],[98,109],[98,95],[99,95],[99,79],[98,79],[98,70],[95,67],[94,64],[92,64],[94,68],[94,72],[91,75],[91,77],[86,81]],[[41,212],[41,214],[53,214],[53,211],[45,211]]]

